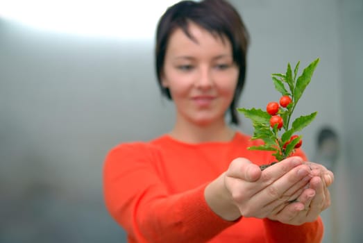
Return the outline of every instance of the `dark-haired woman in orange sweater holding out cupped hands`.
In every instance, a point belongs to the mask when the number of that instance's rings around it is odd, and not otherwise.
[[[156,72],[176,124],[105,159],[106,206],[129,242],[320,242],[333,175],[301,151],[264,171],[267,151],[228,126],[244,85],[248,35],[229,3],[182,1],[161,17]],[[309,165],[309,166],[308,166]]]

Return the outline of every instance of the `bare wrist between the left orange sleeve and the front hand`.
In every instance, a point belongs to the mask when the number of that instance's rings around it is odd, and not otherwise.
[[[241,217],[241,212],[233,203],[230,192],[224,185],[224,173],[209,183],[204,190],[204,198],[210,209],[226,221],[235,221]]]

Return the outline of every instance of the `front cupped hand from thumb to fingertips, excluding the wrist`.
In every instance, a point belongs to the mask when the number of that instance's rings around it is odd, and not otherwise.
[[[237,158],[224,174],[224,185],[240,215],[265,218],[297,199],[311,178],[310,167],[300,157],[287,158],[264,171]]]

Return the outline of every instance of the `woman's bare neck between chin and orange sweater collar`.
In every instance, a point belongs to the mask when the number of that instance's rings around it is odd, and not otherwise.
[[[201,142],[228,142],[235,136],[235,131],[226,125],[224,119],[203,125],[178,121],[177,119],[169,135],[182,142],[197,144]]]

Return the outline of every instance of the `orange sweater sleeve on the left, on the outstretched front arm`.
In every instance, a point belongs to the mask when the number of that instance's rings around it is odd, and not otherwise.
[[[210,210],[201,185],[169,194],[156,173],[151,145],[112,149],[103,167],[105,205],[131,242],[205,242],[235,224]]]

